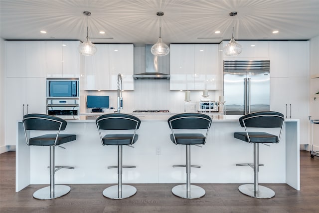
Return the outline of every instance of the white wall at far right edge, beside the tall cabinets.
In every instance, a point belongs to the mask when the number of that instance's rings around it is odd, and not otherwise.
[[[310,76],[319,76],[319,36],[310,40]],[[312,119],[319,119],[319,96],[314,99],[314,94],[319,92],[319,78],[310,78],[310,115]],[[314,124],[314,151],[319,152],[319,124]],[[311,128],[312,133],[312,128]],[[312,137],[312,136],[311,136]],[[312,138],[311,138],[312,140]],[[312,149],[312,147],[311,147]]]

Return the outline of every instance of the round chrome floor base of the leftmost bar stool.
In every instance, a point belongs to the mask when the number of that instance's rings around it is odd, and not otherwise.
[[[55,198],[60,198],[68,194],[70,191],[71,191],[71,188],[69,186],[55,185],[54,192],[51,195],[51,188],[44,187],[42,189],[37,190],[35,193],[33,193],[33,198],[39,199],[39,200],[51,200]]]

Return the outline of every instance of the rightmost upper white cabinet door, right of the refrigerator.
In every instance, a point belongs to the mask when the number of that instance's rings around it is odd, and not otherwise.
[[[288,70],[290,77],[307,77],[308,41],[288,41]]]

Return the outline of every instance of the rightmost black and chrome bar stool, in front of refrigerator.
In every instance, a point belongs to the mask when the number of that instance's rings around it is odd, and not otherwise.
[[[238,187],[238,190],[253,198],[272,198],[275,192],[267,187],[260,186],[258,183],[259,166],[259,144],[268,145],[268,143],[278,143],[284,124],[284,115],[279,112],[264,111],[244,115],[239,118],[241,127],[245,132],[235,132],[234,138],[254,144],[254,164],[236,164],[236,166],[250,166],[254,169],[254,184],[244,184]],[[269,134],[267,132],[248,132],[248,128],[278,128],[278,134]]]

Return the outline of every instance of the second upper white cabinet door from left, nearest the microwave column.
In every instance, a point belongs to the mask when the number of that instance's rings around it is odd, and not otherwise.
[[[25,41],[25,77],[45,77],[45,41]]]

